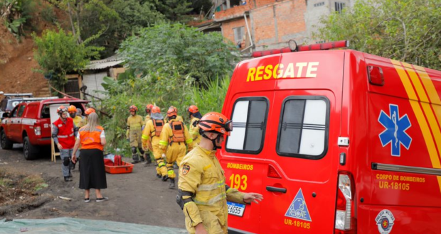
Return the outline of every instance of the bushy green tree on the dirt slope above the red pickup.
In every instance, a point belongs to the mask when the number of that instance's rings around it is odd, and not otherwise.
[[[33,33],[33,41],[37,46],[34,57],[41,69],[37,72],[45,74],[56,89],[63,89],[67,79],[67,72],[82,69],[89,62],[90,57],[97,57],[101,48],[78,44],[72,33],[65,33],[62,28],[45,30],[41,37]]]

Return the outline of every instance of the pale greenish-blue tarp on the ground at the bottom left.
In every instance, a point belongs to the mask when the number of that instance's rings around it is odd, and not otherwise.
[[[165,228],[153,225],[97,221],[81,218],[51,219],[14,219],[6,222],[0,220],[0,234],[33,233],[33,234],[95,234],[95,233],[145,233],[145,234],[179,234],[187,233],[185,229]]]

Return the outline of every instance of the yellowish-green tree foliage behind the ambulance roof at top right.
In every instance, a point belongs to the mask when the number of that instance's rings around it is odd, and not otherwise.
[[[350,40],[351,48],[441,69],[441,1],[366,0],[322,18],[316,38]]]

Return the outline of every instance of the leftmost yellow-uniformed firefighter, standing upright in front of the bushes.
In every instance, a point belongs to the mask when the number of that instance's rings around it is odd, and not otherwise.
[[[144,155],[144,150],[142,150],[142,126],[144,126],[144,119],[142,116],[137,115],[138,108],[137,106],[130,106],[129,108],[130,116],[127,118],[127,132],[126,137],[127,141],[130,143],[130,147],[132,150],[132,163],[139,162],[139,155],[137,152],[137,148],[141,155]],[[141,157],[141,161],[144,161],[144,157]]]

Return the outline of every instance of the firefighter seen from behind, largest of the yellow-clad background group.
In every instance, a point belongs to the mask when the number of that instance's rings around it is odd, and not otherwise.
[[[169,108],[167,116],[169,117],[169,123],[166,123],[162,128],[159,145],[162,157],[165,156],[167,161],[167,174],[170,179],[169,189],[173,189],[175,186],[174,178],[176,177],[173,163],[177,162],[178,165],[181,163],[182,158],[186,155],[186,145],[188,145],[188,150],[193,149],[193,139],[191,139],[184,123],[176,120],[177,113],[174,108]]]

